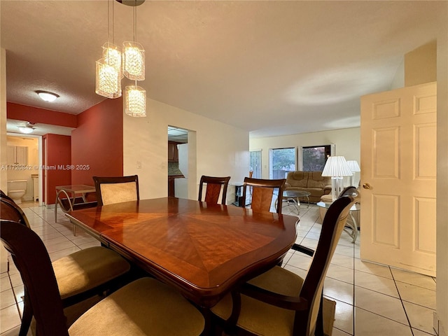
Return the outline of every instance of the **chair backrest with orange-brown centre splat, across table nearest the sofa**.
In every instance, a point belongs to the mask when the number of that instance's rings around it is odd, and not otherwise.
[[[277,198],[276,213],[281,214],[281,206],[283,203],[283,190],[285,190],[286,179],[265,180],[251,179],[246,177],[243,186],[243,204],[246,204],[247,189],[251,190],[252,200],[251,208],[253,211],[269,211],[272,204],[272,196],[274,190],[278,189],[279,196]]]

